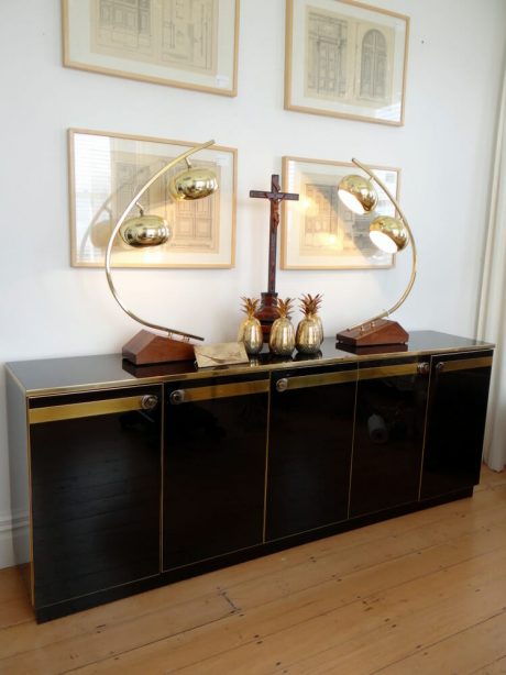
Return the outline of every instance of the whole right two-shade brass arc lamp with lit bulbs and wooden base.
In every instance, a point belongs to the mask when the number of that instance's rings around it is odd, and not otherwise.
[[[403,305],[415,284],[417,248],[413,231],[397,200],[385,184],[358,159],[352,159],[352,162],[383,189],[399,214],[399,218],[392,218],[391,215],[378,215],[375,218],[369,229],[371,241],[382,251],[392,254],[403,251],[410,243],[413,265],[409,281],[397,302],[372,319],[338,333],[337,341],[338,343],[355,347],[405,344],[409,339],[408,333],[396,321],[391,321],[386,317],[393,314]],[[377,193],[372,180],[358,175],[345,176],[338,187],[339,198],[355,213],[370,213],[377,204]]]

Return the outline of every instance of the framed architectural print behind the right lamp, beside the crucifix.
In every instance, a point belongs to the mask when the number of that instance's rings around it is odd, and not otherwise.
[[[370,166],[398,198],[399,169]],[[374,214],[358,215],[338,198],[339,181],[359,173],[354,164],[283,157],[284,190],[299,201],[285,202],[282,217],[283,269],[364,269],[392,267],[394,256],[369,237],[369,224],[378,214],[395,215],[386,193],[375,184]]]

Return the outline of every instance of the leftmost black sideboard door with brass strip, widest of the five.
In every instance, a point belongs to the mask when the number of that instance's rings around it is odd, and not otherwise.
[[[160,573],[162,395],[31,399],[35,608]]]

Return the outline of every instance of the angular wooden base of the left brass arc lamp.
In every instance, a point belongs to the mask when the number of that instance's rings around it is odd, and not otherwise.
[[[195,352],[190,342],[156,335],[148,331],[139,331],[123,346],[123,358],[136,366],[142,366],[151,363],[194,361]]]

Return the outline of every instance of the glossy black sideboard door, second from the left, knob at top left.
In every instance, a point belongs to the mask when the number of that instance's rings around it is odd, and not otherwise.
[[[262,543],[268,374],[166,386],[163,567]]]

